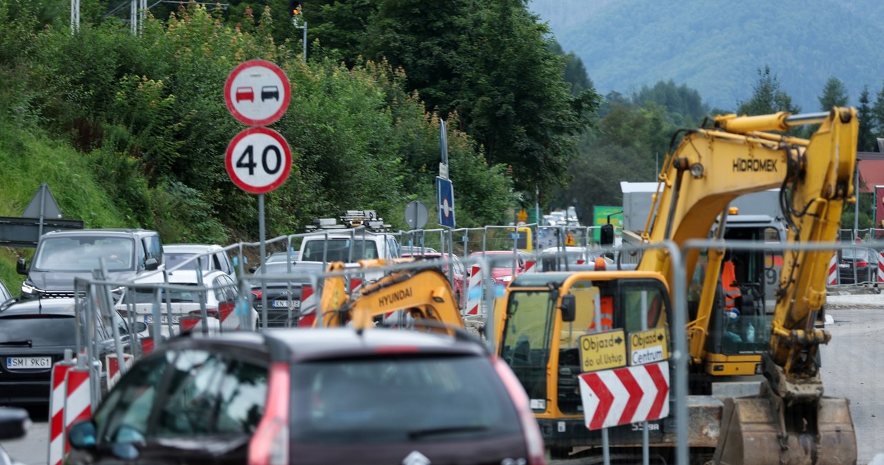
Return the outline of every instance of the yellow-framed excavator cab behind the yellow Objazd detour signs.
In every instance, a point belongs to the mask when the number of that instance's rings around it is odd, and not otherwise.
[[[574,446],[598,446],[600,431],[586,428],[578,375],[584,371],[642,364],[630,360],[630,336],[671,324],[669,292],[663,277],[652,272],[592,271],[517,276],[495,309],[497,344],[530,399],[545,443],[553,454]],[[588,360],[581,336],[622,330],[627,356]],[[670,352],[669,338],[665,353]],[[664,352],[661,350],[661,353]],[[590,370],[585,367],[591,365]],[[652,422],[662,438],[663,421]],[[635,425],[614,427],[612,446],[636,444],[642,432]]]

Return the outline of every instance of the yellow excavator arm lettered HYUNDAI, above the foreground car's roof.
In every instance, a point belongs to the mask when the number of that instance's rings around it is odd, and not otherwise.
[[[355,267],[369,269],[414,262],[415,259],[359,260]],[[319,302],[322,326],[345,326],[352,321],[354,327],[364,329],[373,326],[376,318],[407,311],[407,316],[414,320],[415,327],[419,329],[433,329],[422,324],[422,321],[464,328],[451,284],[438,266],[408,267],[394,271],[353,293],[347,293],[345,278],[341,274],[347,269],[353,271],[354,266],[344,262],[332,262],[328,266],[327,271],[332,275],[324,280]],[[319,319],[314,326],[319,326]]]

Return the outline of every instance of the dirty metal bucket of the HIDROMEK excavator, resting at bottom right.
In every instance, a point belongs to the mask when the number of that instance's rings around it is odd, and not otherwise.
[[[781,416],[782,402],[769,393],[726,399],[713,463],[854,464],[857,436],[849,403],[823,397],[785,408]]]

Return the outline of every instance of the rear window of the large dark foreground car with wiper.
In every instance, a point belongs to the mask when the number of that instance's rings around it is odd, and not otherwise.
[[[484,357],[397,357],[296,364],[290,426],[297,443],[484,439],[520,430]]]

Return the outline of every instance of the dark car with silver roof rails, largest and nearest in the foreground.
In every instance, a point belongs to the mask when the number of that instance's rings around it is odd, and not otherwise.
[[[68,439],[70,465],[545,463],[522,385],[484,344],[386,328],[175,339]]]

